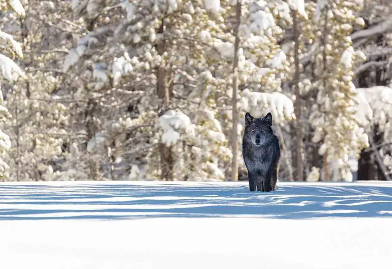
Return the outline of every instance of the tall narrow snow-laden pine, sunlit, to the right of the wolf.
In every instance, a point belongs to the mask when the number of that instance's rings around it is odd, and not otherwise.
[[[310,121],[315,129],[313,142],[323,141],[319,153],[324,156],[325,181],[350,181],[349,155],[357,156],[368,146],[367,135],[356,118],[357,90],[352,82],[354,64],[365,57],[352,47],[349,36],[353,25],[363,22],[354,16],[361,9],[360,2],[327,0],[319,2],[316,9],[313,60],[318,94]],[[332,170],[337,172],[331,176]]]

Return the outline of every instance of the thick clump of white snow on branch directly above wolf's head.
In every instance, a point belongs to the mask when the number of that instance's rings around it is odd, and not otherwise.
[[[285,95],[274,93],[257,93],[244,89],[241,94],[241,108],[256,118],[271,112],[276,124],[296,120],[292,101]]]

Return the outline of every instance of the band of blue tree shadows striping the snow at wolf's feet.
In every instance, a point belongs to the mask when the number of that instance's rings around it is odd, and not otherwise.
[[[150,217],[392,217],[392,185],[278,185],[250,193],[245,184],[0,185],[0,220]]]

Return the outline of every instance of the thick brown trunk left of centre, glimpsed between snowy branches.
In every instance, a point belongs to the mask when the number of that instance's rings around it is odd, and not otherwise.
[[[158,33],[163,34],[164,31],[164,19],[162,19],[161,26],[159,27]],[[157,52],[159,55],[163,55],[165,52],[165,40],[163,39],[157,45]],[[157,95],[162,101],[161,107],[158,113],[158,117],[162,116],[170,106],[170,93],[172,88],[169,85],[169,71],[167,66],[161,65],[157,69]],[[171,147],[167,147],[164,143],[159,143],[159,153],[160,153],[160,167],[162,181],[173,181],[174,179],[174,160]]]

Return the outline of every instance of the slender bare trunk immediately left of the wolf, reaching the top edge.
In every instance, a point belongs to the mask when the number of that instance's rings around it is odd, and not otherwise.
[[[232,120],[233,130],[231,136],[231,147],[233,152],[232,167],[231,167],[231,180],[238,181],[238,110],[237,110],[237,94],[238,94],[238,49],[240,46],[240,37],[238,30],[241,24],[241,0],[237,0],[236,7],[236,27],[234,29],[234,61],[233,61],[233,97],[232,97]]]

